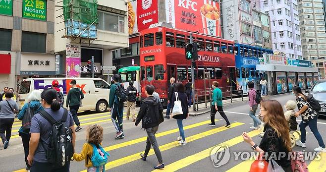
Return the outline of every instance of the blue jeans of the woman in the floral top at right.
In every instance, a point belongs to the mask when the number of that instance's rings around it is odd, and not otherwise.
[[[317,118],[318,117],[315,116],[315,118],[309,120],[308,122],[303,122],[303,120],[300,122],[299,127],[301,132],[301,142],[306,143],[306,127],[309,125],[309,128],[317,139],[319,146],[325,148],[323,138],[317,128]]]

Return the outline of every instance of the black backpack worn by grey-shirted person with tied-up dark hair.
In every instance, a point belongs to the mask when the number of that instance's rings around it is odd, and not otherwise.
[[[61,120],[56,121],[50,114],[42,110],[39,112],[52,124],[50,143],[47,148],[43,145],[48,162],[55,168],[64,167],[71,159],[74,150],[72,146],[72,130],[66,125],[68,111],[64,109]]]

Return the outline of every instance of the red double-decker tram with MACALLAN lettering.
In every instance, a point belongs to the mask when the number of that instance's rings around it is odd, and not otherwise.
[[[146,98],[145,86],[154,85],[163,106],[167,105],[169,79],[174,77],[183,84],[191,80],[191,60],[185,58],[185,45],[190,43],[190,32],[155,27],[140,32],[141,98]],[[198,43],[198,60],[195,67],[195,89],[204,89],[204,75],[209,88],[213,81],[219,82],[222,91],[229,91],[235,81],[234,42],[193,33]],[[205,91],[199,91],[198,97]],[[225,94],[224,94],[225,95]]]

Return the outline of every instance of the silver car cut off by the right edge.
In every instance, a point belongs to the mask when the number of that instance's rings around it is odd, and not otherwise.
[[[319,115],[326,116],[326,79],[318,80],[310,90],[306,90],[308,96],[314,97],[321,105]]]

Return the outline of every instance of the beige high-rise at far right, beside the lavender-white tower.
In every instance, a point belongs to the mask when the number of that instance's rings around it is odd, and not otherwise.
[[[303,58],[325,77],[326,31],[322,0],[298,0]]]

